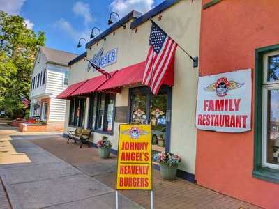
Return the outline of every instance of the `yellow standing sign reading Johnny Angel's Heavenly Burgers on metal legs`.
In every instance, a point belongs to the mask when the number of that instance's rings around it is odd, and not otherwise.
[[[119,126],[116,208],[117,190],[150,190],[153,208],[151,150],[151,125]]]

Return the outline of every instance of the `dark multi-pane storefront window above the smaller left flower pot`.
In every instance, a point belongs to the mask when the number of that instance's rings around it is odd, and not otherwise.
[[[89,128],[96,132],[112,133],[115,95],[95,93],[90,98]]]

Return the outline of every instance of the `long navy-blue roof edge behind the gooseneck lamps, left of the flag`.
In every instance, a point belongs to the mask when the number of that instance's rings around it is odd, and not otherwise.
[[[96,42],[102,40],[103,38],[105,38],[105,36],[109,35],[110,33],[112,33],[113,31],[115,31],[116,29],[119,29],[123,24],[125,24],[126,22],[129,22],[130,20],[132,20],[133,18],[138,18],[141,17],[142,13],[133,10],[130,13],[128,13],[128,15],[122,17],[118,22],[114,23],[112,26],[110,26],[108,29],[106,29],[105,31],[103,31],[102,33],[100,33],[100,35],[98,35],[96,38],[93,38],[92,40],[90,40],[87,44],[86,44],[86,49],[91,47],[92,45],[94,45]]]

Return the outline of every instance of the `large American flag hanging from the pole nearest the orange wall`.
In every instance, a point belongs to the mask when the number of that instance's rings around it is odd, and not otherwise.
[[[150,86],[152,93],[156,95],[174,59],[177,44],[152,22],[149,45],[142,83]]]

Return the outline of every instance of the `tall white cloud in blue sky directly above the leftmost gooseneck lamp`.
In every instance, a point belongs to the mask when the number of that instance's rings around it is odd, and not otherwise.
[[[73,13],[77,16],[84,18],[84,24],[87,26],[93,22],[93,17],[91,16],[91,10],[89,4],[83,3],[82,1],[77,1],[73,6]]]

